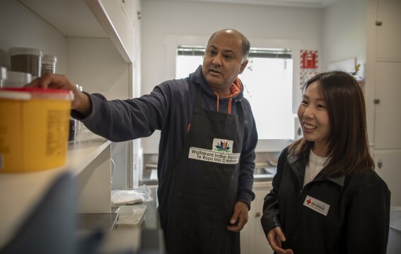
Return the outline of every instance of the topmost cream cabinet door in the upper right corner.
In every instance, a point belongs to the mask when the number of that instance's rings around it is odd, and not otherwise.
[[[401,1],[378,0],[377,2],[377,51],[382,60],[401,59]]]

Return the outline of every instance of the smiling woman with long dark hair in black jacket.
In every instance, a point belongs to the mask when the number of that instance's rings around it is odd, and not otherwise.
[[[342,71],[308,80],[303,138],[279,157],[263,230],[276,253],[385,253],[390,191],[374,171],[364,95]]]

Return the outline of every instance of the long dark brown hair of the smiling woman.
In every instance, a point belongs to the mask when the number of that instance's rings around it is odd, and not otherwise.
[[[343,176],[374,169],[369,153],[366,131],[364,93],[354,77],[343,71],[319,73],[308,80],[318,84],[320,96],[325,100],[330,121],[330,138],[327,140],[327,157],[330,161],[322,169],[327,176]],[[313,142],[301,138],[289,149],[308,164]]]

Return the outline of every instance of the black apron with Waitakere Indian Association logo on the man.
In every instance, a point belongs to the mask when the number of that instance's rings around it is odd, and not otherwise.
[[[240,253],[240,234],[226,229],[238,195],[244,136],[243,108],[236,103],[238,115],[202,109],[197,87],[190,131],[163,179],[171,181],[161,211],[170,254]]]

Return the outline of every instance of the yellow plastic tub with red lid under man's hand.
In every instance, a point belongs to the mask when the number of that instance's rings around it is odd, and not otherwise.
[[[65,164],[72,98],[67,90],[0,89],[0,173]]]

